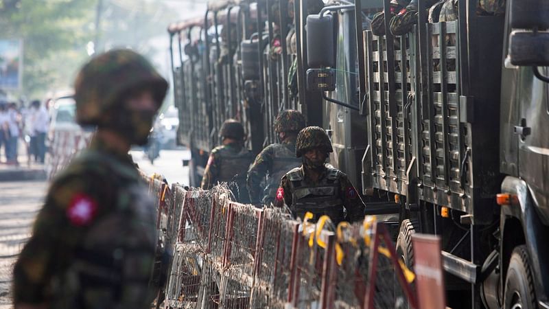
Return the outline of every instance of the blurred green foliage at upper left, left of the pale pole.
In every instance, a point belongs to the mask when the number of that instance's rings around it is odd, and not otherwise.
[[[3,0],[0,28],[5,38],[23,38],[23,92],[44,95],[68,87],[75,66],[87,56],[93,34],[93,1]]]

